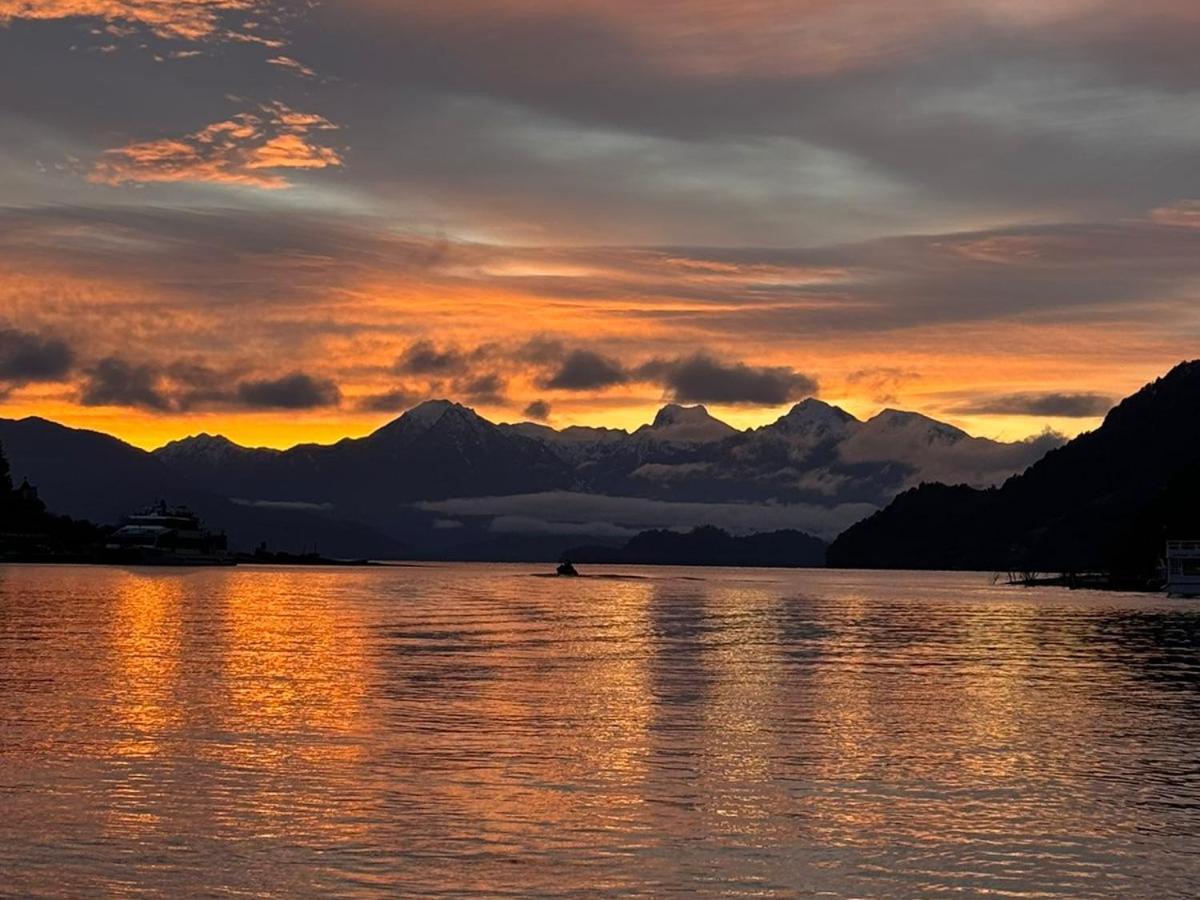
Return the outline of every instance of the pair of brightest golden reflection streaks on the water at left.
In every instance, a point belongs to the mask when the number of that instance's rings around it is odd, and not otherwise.
[[[272,752],[263,738],[361,733],[368,677],[361,631],[336,602],[306,604],[305,614],[295,614],[298,596],[320,595],[322,577],[238,571],[197,584],[169,570],[120,571],[108,618],[110,696],[127,737],[108,751],[158,752],[188,715],[226,733],[256,736],[257,746],[227,750],[259,758]],[[191,590],[197,586],[200,593]],[[185,659],[190,643],[202,646],[202,665]],[[320,740],[286,752],[359,751],[353,742]]]

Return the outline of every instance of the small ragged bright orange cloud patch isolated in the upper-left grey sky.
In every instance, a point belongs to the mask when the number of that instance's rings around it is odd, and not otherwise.
[[[265,190],[290,187],[281,169],[324,169],[341,154],[313,140],[337,126],[283,103],[238,113],[182,138],[160,138],[107,150],[88,179],[103,185],[200,181]]]

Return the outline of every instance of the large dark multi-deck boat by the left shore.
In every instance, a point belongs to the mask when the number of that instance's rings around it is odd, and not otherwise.
[[[187,506],[160,500],[126,516],[104,547],[115,562],[137,565],[235,565],[224,533],[210,532]]]

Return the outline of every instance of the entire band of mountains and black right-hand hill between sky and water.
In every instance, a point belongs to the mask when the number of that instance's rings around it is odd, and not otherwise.
[[[13,475],[55,512],[110,523],[166,498],[238,548],[456,559],[720,551],[808,565],[817,541],[835,538],[836,566],[1145,574],[1164,538],[1200,535],[1198,410],[1193,361],[1069,443],[973,438],[892,409],[862,421],[817,400],[745,431],[698,406],[664,407],[626,432],[493,424],[428,401],[364,438],[288,450],[199,434],[146,452],[38,418],[0,419],[0,442]],[[761,538],[742,540],[751,534]]]

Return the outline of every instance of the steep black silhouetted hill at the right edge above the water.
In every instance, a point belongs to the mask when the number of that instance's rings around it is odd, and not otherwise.
[[[1145,572],[1200,534],[1200,361],[992,490],[922,485],[848,528],[836,566]]]

